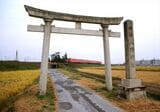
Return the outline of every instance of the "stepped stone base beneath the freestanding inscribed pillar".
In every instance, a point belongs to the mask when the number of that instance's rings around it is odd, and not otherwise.
[[[128,100],[144,98],[146,97],[145,86],[140,79],[122,79],[119,95]]]

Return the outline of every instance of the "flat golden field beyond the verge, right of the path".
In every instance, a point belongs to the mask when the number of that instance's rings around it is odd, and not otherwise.
[[[156,68],[155,71],[154,67],[152,67],[149,71],[149,67],[146,68],[147,70],[144,68],[145,67],[143,67],[143,70],[141,69],[140,71],[137,70],[136,77],[142,79],[144,85],[147,87],[146,90],[148,95],[160,100],[160,70],[158,71]],[[102,80],[105,79],[103,67],[83,67],[78,68],[77,70],[81,73],[85,73]],[[115,83],[113,84],[120,84],[120,80],[125,78],[125,70],[112,69],[112,77],[113,80],[115,80]]]

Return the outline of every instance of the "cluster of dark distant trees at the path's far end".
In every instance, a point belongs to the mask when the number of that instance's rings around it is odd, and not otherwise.
[[[56,62],[56,63],[65,63],[67,60],[67,53],[65,53],[62,57],[60,56],[60,52],[55,52],[51,54],[51,62]]]

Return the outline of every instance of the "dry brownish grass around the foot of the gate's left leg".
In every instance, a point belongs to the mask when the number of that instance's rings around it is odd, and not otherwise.
[[[47,93],[45,96],[39,96],[39,87],[35,83],[30,86],[21,95],[16,96],[16,100],[2,112],[54,112],[55,111],[55,94],[50,78],[48,78]]]

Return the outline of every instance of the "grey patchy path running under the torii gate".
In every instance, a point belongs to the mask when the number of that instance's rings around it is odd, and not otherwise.
[[[58,98],[59,112],[122,112],[109,101],[103,100],[55,69],[49,70],[53,78]]]

